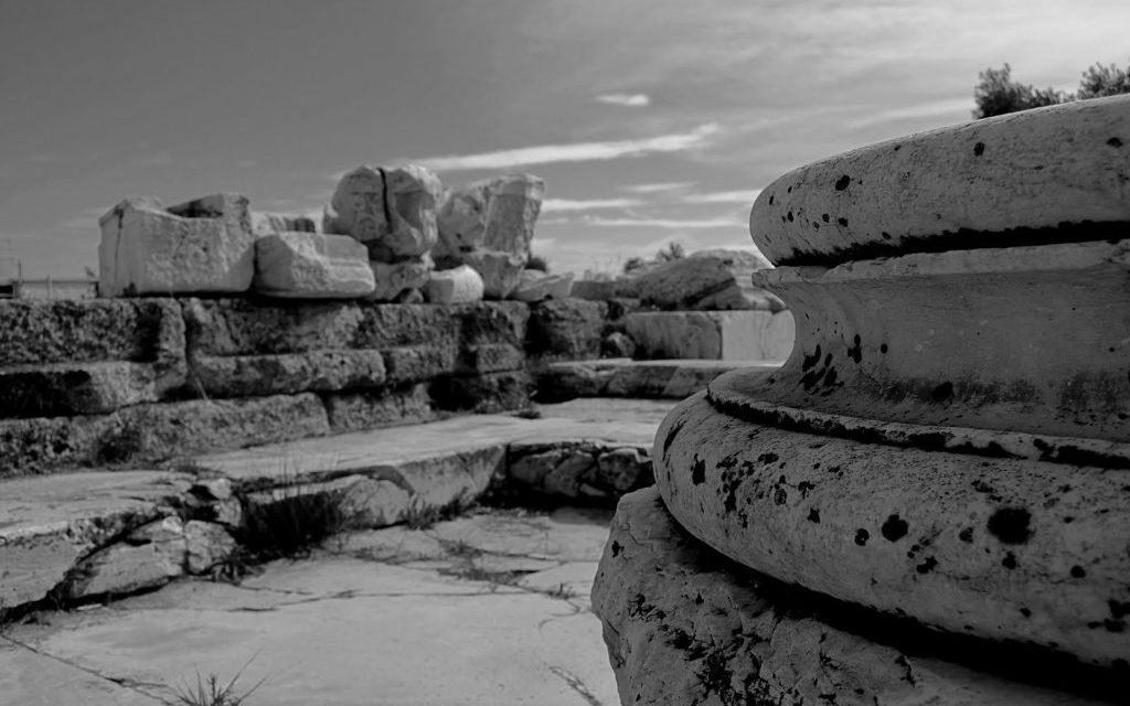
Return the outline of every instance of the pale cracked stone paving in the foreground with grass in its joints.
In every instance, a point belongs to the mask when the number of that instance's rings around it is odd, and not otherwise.
[[[181,581],[0,634],[0,703],[617,704],[589,590],[610,511],[484,511],[344,535],[241,585]]]

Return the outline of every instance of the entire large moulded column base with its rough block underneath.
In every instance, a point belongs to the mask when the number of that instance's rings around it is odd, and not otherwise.
[[[766,188],[779,371],[681,402],[593,609],[629,704],[1125,703],[1130,97]]]

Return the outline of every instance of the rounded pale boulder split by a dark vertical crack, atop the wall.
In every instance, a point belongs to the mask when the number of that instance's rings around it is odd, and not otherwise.
[[[360,241],[370,260],[418,260],[436,242],[441,190],[435,174],[417,165],[362,165],[338,182],[325,232]]]

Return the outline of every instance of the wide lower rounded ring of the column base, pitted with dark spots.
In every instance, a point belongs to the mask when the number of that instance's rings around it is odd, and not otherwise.
[[[899,446],[789,428],[738,424],[703,393],[680,403],[654,451],[671,514],[847,603],[1103,666],[1130,654],[1124,470],[946,452],[939,428]]]

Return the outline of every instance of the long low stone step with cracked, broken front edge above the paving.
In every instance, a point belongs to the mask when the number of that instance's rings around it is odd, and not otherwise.
[[[537,419],[457,417],[156,470],[2,480],[0,619],[49,598],[130,593],[209,573],[237,550],[249,517],[296,498],[332,500],[341,526],[410,521],[470,504],[493,486],[611,502],[652,482],[651,445],[669,409],[583,400],[545,406]]]

